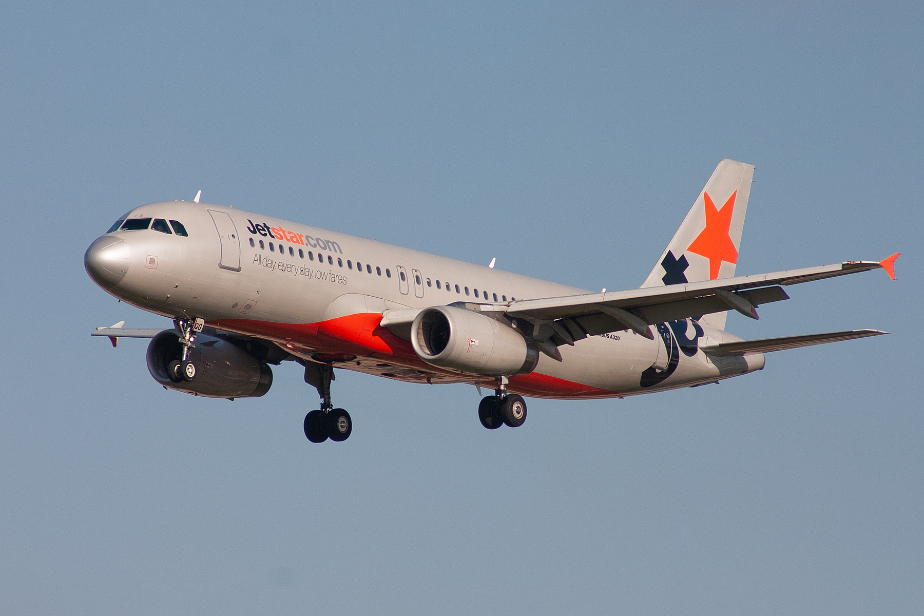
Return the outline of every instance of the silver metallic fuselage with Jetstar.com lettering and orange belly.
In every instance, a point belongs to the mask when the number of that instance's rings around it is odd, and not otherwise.
[[[222,223],[226,217],[230,224]],[[509,301],[590,293],[206,203],[151,203],[122,218],[177,220],[188,236],[152,229],[119,230],[93,242],[85,256],[87,271],[113,296],[166,317],[201,317],[216,328],[270,340],[292,356],[333,358],[339,368],[399,380],[492,386],[492,380],[484,377],[425,364],[410,343],[378,327],[387,308],[494,303],[494,294],[498,303],[504,303],[502,297]],[[280,231],[286,239],[276,237]],[[562,362],[541,356],[534,373],[512,378],[509,389],[537,397],[617,397],[688,387],[763,368],[760,354],[707,356],[699,345],[739,339],[691,320],[683,323],[663,326],[664,332],[671,332],[656,335],[653,341],[624,331],[562,346]],[[684,340],[682,336],[694,341],[692,345],[684,347],[686,352],[675,346],[670,373],[643,386],[643,372],[652,365],[666,368],[665,355],[672,353],[669,345]]]

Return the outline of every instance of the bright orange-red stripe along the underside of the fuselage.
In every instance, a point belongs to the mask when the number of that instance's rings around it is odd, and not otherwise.
[[[317,323],[221,319],[209,321],[208,325],[280,344],[307,347],[323,355],[388,357],[410,368],[426,368],[437,374],[459,376],[457,372],[435,368],[424,362],[414,353],[414,347],[409,342],[380,326],[381,320],[382,315],[378,312],[359,312]],[[494,383],[485,381],[481,386],[493,388]],[[510,377],[507,390],[536,398],[612,398],[619,395],[538,372]]]

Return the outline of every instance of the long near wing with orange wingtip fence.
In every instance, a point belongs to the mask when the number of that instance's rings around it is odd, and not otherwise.
[[[517,301],[510,317],[529,321],[532,337],[554,344],[574,344],[588,335],[633,330],[652,337],[648,326],[669,320],[699,318],[730,308],[757,319],[760,304],[788,299],[783,286],[883,268],[894,278],[898,254],[881,261],[845,261],[833,265],[737,276],[698,283],[668,284],[582,296]]]

